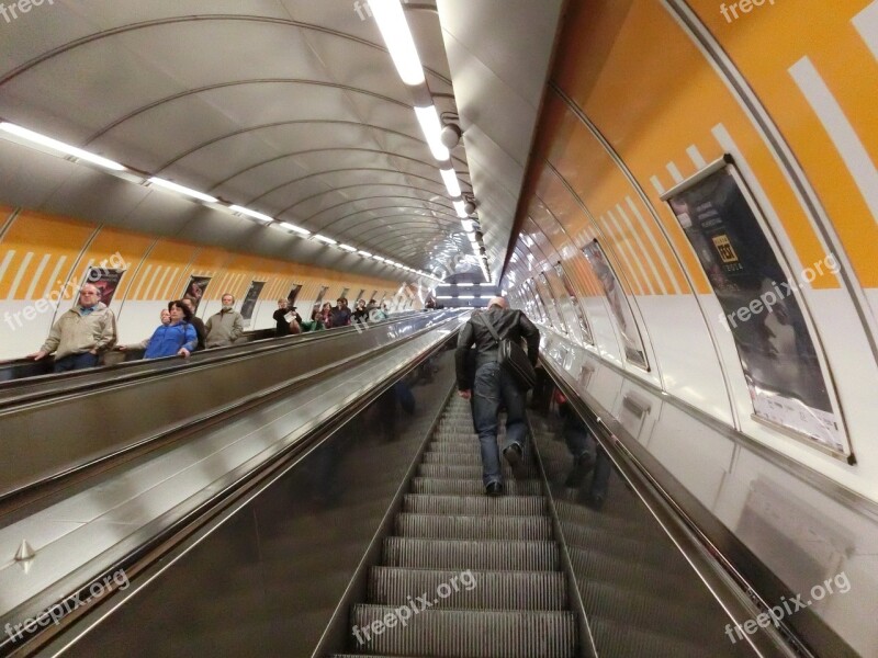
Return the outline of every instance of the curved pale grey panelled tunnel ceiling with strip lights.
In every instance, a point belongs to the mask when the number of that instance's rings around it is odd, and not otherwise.
[[[407,4],[437,110],[465,131],[451,158],[496,281],[560,1]],[[472,253],[364,2],[55,0],[0,29],[3,121],[416,270]],[[0,162],[0,202],[396,273],[19,144]]]

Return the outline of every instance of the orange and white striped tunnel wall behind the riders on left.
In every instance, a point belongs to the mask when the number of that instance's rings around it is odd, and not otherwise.
[[[89,268],[124,270],[110,307],[119,319],[121,343],[139,342],[158,326],[158,314],[170,299],[183,296],[191,276],[210,277],[196,315],[219,309],[229,292],[240,310],[252,282],[263,282],[249,329],[274,326],[277,300],[302,285],[296,298],[305,317],[323,286],[324,300],[347,290],[352,305],[358,293],[390,303],[399,284],[264,257],[235,253],[92,224],[78,219],[0,206],[0,359],[35,352],[54,320],[75,302]],[[103,263],[103,265],[102,265]],[[58,300],[56,305],[49,300]]]

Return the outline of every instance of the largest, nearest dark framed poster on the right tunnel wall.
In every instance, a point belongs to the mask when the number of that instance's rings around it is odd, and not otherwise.
[[[732,334],[755,418],[849,455],[804,309],[743,179],[721,160],[664,197],[705,269]]]

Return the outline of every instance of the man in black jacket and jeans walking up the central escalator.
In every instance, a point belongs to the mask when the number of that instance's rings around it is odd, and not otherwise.
[[[455,365],[458,374],[458,395],[472,399],[473,424],[479,433],[482,450],[482,481],[485,494],[499,496],[503,492],[500,457],[497,449],[497,415],[500,405],[506,408],[506,442],[503,456],[513,466],[520,463],[527,438],[527,417],[525,412],[525,392],[511,375],[500,370],[497,363],[497,341],[484,321],[491,322],[500,340],[520,342],[528,345],[528,359],[537,365],[540,349],[540,332],[520,310],[511,310],[503,297],[493,297],[487,311],[475,313],[463,326],[458,338]],[[475,345],[475,382],[469,381],[466,354]]]

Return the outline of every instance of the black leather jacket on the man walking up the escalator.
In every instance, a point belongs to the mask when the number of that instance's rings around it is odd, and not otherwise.
[[[488,320],[496,329],[500,340],[508,338],[521,342],[527,341],[528,359],[536,366],[540,350],[540,331],[533,326],[521,310],[510,308],[499,308],[492,306],[486,311],[476,311],[460,330],[458,337],[458,349],[454,353],[454,365],[458,375],[458,389],[468,390],[472,388],[470,382],[471,373],[468,373],[466,353],[472,345],[475,345],[475,367],[484,363],[497,360],[497,341],[491,336],[487,327],[482,322],[482,316]]]

